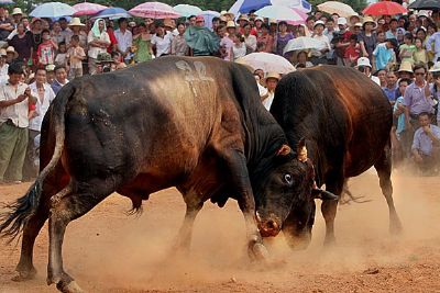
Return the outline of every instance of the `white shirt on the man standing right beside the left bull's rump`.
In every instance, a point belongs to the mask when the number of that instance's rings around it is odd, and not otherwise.
[[[31,88],[32,95],[36,98],[35,113],[37,114],[36,117],[33,117],[29,121],[29,128],[32,131],[41,132],[44,115],[46,114],[52,101],[55,99],[55,93],[52,90],[51,84],[44,83],[44,95],[43,100],[41,100],[42,98],[38,94],[36,82],[31,83],[29,87]]]

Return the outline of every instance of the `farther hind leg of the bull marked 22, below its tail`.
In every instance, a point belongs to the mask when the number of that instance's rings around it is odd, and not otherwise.
[[[41,209],[35,215],[33,215],[23,227],[23,238],[21,243],[20,261],[16,264],[15,270],[19,275],[12,280],[20,282],[31,280],[35,277],[36,270],[33,266],[33,249],[35,238],[38,235],[41,228],[48,217],[48,211],[46,207]]]

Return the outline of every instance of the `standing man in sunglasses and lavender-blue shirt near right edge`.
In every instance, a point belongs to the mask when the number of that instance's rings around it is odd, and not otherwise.
[[[416,76],[415,82],[409,84],[405,90],[405,122],[413,126],[413,128],[418,127],[420,113],[433,113],[433,102],[429,93],[429,83],[426,82],[426,68],[422,65],[416,65],[414,67],[414,75]],[[426,88],[428,87],[428,91]],[[410,125],[406,125],[410,129]]]

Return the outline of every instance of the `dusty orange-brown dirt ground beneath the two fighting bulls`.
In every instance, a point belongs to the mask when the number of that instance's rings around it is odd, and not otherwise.
[[[64,264],[87,292],[440,292],[440,180],[395,173],[394,198],[404,225],[388,234],[388,211],[374,171],[349,183],[371,202],[342,205],[337,244],[322,246],[320,212],[310,247],[292,251],[271,240],[277,266],[251,263],[243,217],[234,201],[207,203],[195,226],[191,253],[173,256],[185,205],[174,189],[153,194],[141,216],[118,194],[73,222],[65,236]],[[21,196],[28,184],[1,187],[0,202]],[[35,280],[15,283],[19,246],[0,243],[0,293],[56,292],[47,286],[47,227],[35,245]]]

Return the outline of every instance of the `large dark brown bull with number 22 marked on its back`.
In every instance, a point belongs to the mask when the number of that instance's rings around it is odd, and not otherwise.
[[[176,187],[187,204],[184,248],[205,201],[222,206],[237,199],[250,253],[264,256],[254,196],[265,196],[260,190],[293,194],[290,169],[304,171],[301,189],[311,194],[314,187],[306,164],[261,104],[253,76],[217,58],[165,57],[75,79],[46,113],[41,142],[40,176],[2,214],[0,233],[23,234],[18,278],[31,279],[34,240],[48,218],[47,283],[63,292],[80,291],[63,268],[68,223],[114,191],[139,210],[151,193]],[[260,182],[263,174],[276,181],[267,187]]]

